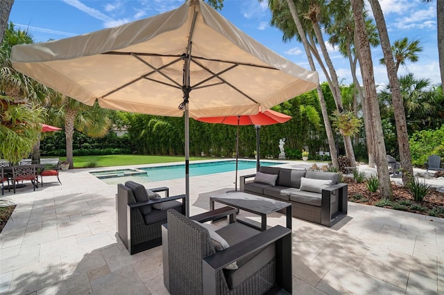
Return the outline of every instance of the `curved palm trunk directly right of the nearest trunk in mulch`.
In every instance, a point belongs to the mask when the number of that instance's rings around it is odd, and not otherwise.
[[[390,39],[388,39],[386,21],[381,6],[377,0],[370,0],[370,5],[372,7],[373,16],[375,17],[379,39],[381,40],[382,52],[384,53],[384,60],[386,62],[388,81],[391,88],[391,101],[395,113],[396,135],[398,137],[398,145],[400,149],[402,182],[405,186],[413,177],[413,166],[411,166],[409,134],[407,133],[404,101],[401,96],[400,82],[398,80],[396,65],[393,61],[393,52],[391,51]]]

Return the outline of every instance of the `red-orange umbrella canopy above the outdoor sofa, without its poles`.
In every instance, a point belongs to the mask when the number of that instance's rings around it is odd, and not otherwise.
[[[239,125],[273,125],[278,123],[285,123],[292,117],[282,114],[272,109],[266,111],[259,111],[255,115],[239,116]],[[225,125],[237,125],[238,116],[225,116],[225,117],[207,117],[207,118],[195,118],[200,122],[206,123],[220,123]]]

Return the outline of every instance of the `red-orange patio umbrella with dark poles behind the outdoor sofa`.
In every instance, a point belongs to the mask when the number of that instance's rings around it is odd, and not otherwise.
[[[273,125],[278,123],[285,123],[292,117],[282,114],[278,111],[273,111],[272,109],[267,109],[261,111],[259,107],[259,113],[255,115],[244,115],[244,116],[221,116],[221,117],[207,117],[207,118],[195,118],[200,122],[205,123],[219,123],[225,125],[237,125],[237,136],[236,136],[236,180],[234,181],[235,190],[237,190],[237,161],[239,159],[239,125],[255,125],[256,127],[256,170],[259,171],[259,128],[261,125]]]

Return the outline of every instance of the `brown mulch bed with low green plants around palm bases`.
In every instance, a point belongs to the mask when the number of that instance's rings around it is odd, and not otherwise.
[[[365,183],[358,184],[355,179],[350,177],[345,177],[344,182],[348,184],[348,200],[350,202],[370,206],[376,206],[375,204],[377,204],[381,206],[379,191],[371,193]],[[393,202],[388,202],[388,204],[381,207],[393,208],[422,215],[430,215],[430,211],[433,211],[432,215],[435,215],[436,217],[444,217],[444,193],[439,193],[432,188],[422,202],[416,202],[407,188],[395,184],[393,181],[391,186],[393,190]]]

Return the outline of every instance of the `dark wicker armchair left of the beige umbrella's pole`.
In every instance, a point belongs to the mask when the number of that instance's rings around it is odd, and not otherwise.
[[[161,199],[141,198],[148,193],[164,192]],[[117,233],[131,255],[160,246],[162,244],[161,226],[167,223],[167,210],[173,208],[185,213],[185,195],[169,197],[169,188],[147,190],[141,184],[127,181],[117,185],[116,215]],[[182,202],[176,200],[182,199]],[[162,204],[162,210],[153,208],[153,204]]]

